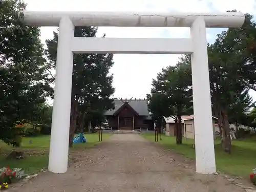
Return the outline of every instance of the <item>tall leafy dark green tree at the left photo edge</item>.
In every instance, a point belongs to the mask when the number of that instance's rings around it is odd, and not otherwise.
[[[40,30],[25,26],[20,14],[25,8],[19,0],[0,4],[0,139],[13,145],[19,145],[15,125],[31,121],[37,105],[53,91],[48,86]]]

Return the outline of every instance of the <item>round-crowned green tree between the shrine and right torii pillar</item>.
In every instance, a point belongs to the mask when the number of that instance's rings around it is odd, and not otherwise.
[[[185,61],[185,56],[176,66],[169,66],[158,73],[157,78],[152,82],[152,98],[158,94],[158,100],[164,100],[165,104],[158,105],[160,115],[172,117],[176,122],[176,142],[182,143],[181,115],[193,104],[191,91],[191,70]],[[161,96],[161,97],[160,97]],[[164,99],[163,99],[164,98]],[[153,100],[154,101],[154,100]],[[153,104],[151,104],[153,105]],[[150,106],[151,106],[150,105]],[[157,103],[155,103],[157,105]],[[164,114],[164,110],[166,110]],[[154,114],[154,113],[153,113]]]

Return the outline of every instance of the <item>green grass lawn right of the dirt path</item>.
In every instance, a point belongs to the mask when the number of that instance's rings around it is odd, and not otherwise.
[[[155,134],[142,134],[150,141],[155,141]],[[158,142],[168,150],[175,151],[187,158],[195,159],[194,140],[183,138],[183,144],[177,145],[175,137],[163,135],[162,140]],[[256,167],[256,137],[250,137],[244,140],[232,140],[231,155],[223,152],[221,141],[215,141],[215,154],[217,169],[224,173],[242,176],[248,178],[252,168]]]

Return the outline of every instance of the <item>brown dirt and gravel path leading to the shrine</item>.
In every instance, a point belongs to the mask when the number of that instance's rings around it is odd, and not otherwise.
[[[221,176],[196,174],[193,164],[138,134],[114,134],[96,148],[71,154],[67,173],[43,173],[8,192],[245,191]]]

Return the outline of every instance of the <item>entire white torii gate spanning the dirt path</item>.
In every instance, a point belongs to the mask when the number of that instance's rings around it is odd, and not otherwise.
[[[124,13],[24,11],[30,26],[59,27],[49,170],[68,168],[74,53],[191,54],[196,170],[216,172],[206,28],[241,27],[243,13]],[[74,26],[189,27],[191,38],[74,37]]]

